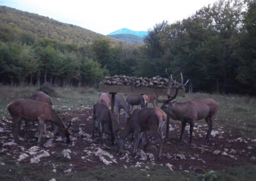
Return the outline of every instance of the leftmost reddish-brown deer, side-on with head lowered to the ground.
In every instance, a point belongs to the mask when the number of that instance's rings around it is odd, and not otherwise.
[[[71,122],[68,126],[65,126],[51,105],[32,99],[17,99],[7,105],[7,109],[13,119],[12,133],[16,143],[19,144],[18,128],[19,122],[22,119],[38,121],[38,145],[40,145],[41,142],[45,121],[55,124],[61,133],[63,133],[67,138],[67,143],[70,142],[68,127],[70,127]]]

